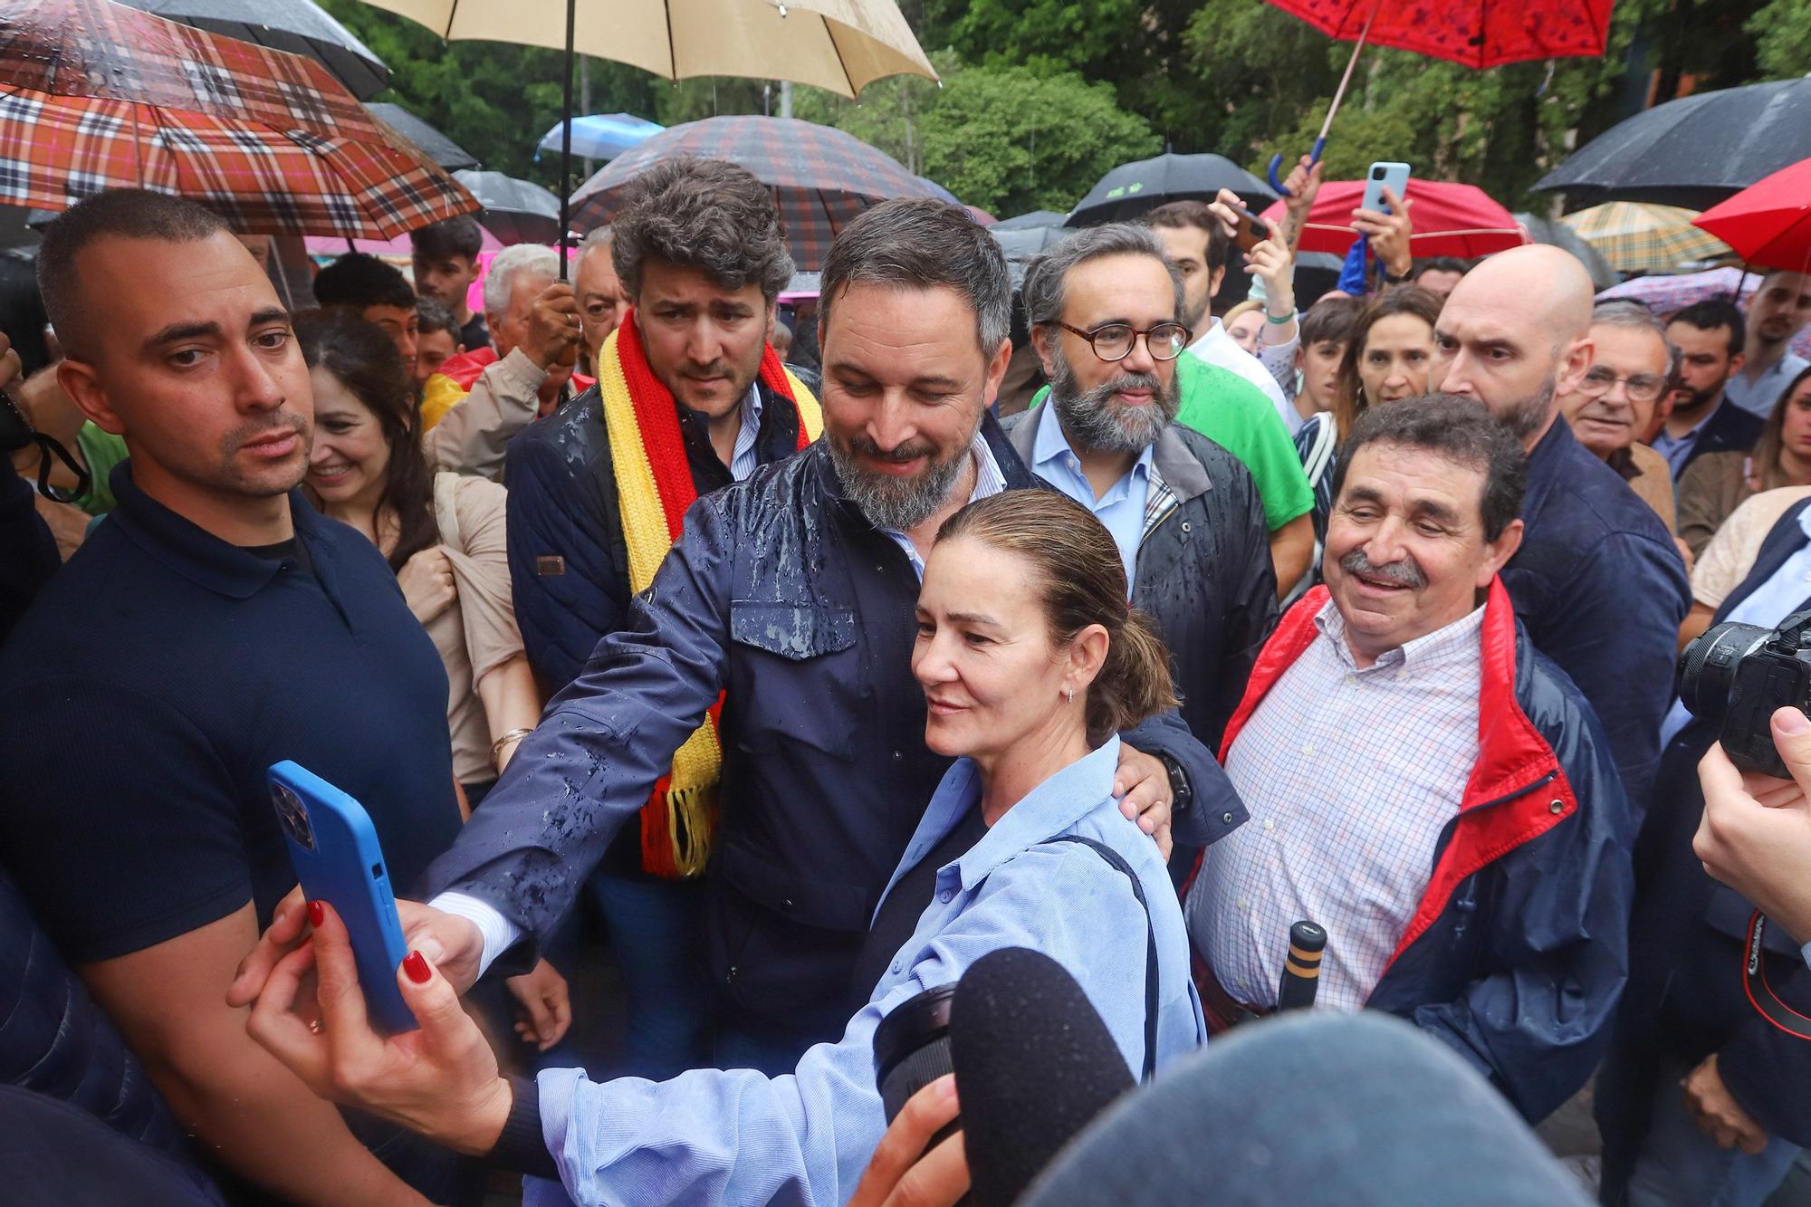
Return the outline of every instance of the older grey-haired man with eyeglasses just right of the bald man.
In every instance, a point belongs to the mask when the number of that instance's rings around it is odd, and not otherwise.
[[[1626,301],[1597,303],[1590,341],[1592,366],[1577,390],[1559,399],[1559,413],[1577,442],[1615,469],[1668,533],[1677,533],[1672,469],[1637,437],[1653,422],[1679,350],[1666,343],[1666,328],[1646,306]]]

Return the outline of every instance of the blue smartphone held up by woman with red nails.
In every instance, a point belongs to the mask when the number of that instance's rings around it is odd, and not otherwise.
[[[295,879],[310,901],[333,906],[351,933],[364,1008],[378,1031],[413,1031],[415,1015],[397,988],[409,948],[397,919],[397,895],[364,805],[299,763],[275,763],[270,801],[290,845]]]

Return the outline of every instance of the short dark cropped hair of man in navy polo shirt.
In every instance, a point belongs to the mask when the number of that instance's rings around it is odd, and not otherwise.
[[[78,361],[94,355],[81,304],[76,257],[96,239],[149,239],[154,243],[203,243],[230,234],[226,219],[187,198],[149,188],[109,188],[63,210],[43,228],[38,246],[38,288],[63,352]],[[250,256],[250,252],[246,252]]]

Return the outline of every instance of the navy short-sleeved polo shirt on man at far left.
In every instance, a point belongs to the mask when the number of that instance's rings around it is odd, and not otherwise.
[[[290,495],[302,556],[234,547],[112,473],[120,506],[0,649],[0,861],[71,962],[295,886],[264,770],[371,814],[406,892],[460,828],[447,676],[382,555]]]

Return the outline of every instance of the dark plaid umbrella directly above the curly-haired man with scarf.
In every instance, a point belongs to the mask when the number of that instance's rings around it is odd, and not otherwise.
[[[585,181],[572,194],[572,227],[589,230],[608,223],[628,181],[679,156],[739,163],[773,188],[786,245],[806,272],[824,266],[829,241],[869,205],[934,196],[891,156],[828,125],[793,118],[704,118],[661,130]]]

